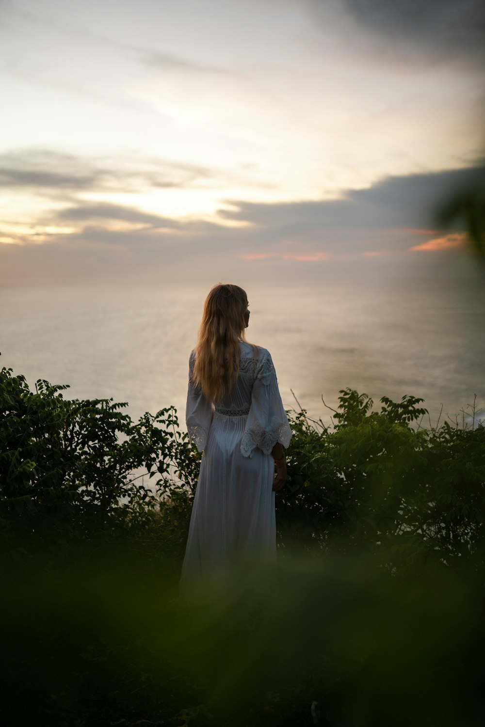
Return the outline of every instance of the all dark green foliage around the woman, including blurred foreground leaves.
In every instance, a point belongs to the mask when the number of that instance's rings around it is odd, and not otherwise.
[[[199,455],[64,389],[1,371],[3,724],[483,723],[485,427],[292,415],[277,563],[177,603]]]

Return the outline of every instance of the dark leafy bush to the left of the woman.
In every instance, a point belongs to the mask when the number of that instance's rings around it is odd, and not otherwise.
[[[167,528],[177,523],[163,505],[177,509],[184,486],[195,488],[199,456],[180,432],[175,409],[146,413],[135,423],[122,411],[126,404],[69,401],[67,388],[39,379],[34,393],[25,377],[1,369],[4,538],[56,545],[96,534],[140,534],[157,519]]]

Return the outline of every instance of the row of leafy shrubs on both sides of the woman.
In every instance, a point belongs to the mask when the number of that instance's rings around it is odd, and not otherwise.
[[[2,369],[3,538],[68,548],[99,537],[148,542],[180,561],[200,456],[175,409],[138,422],[111,400]],[[367,553],[390,571],[474,558],[484,541],[485,427],[417,425],[422,400],[345,390],[334,426],[290,415],[289,481],[278,494],[281,553]],[[158,535],[157,535],[158,534]]]

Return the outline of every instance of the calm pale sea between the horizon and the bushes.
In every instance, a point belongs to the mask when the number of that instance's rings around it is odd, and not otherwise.
[[[183,420],[188,355],[206,289],[5,288],[0,363],[71,385],[71,398],[127,401],[139,417],[174,404]],[[485,303],[466,289],[326,285],[248,289],[248,340],[270,350],[285,406],[329,422],[340,389],[425,398],[433,424],[485,404]]]

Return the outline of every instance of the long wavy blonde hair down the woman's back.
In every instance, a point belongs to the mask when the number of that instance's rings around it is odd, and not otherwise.
[[[246,340],[246,292],[217,284],[206,298],[196,343],[193,382],[209,401],[219,403],[239,374],[239,343]]]

